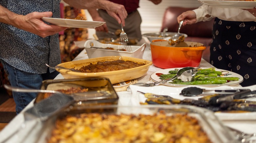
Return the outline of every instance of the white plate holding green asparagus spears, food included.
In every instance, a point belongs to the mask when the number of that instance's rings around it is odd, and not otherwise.
[[[171,68],[156,71],[150,75],[153,81],[159,82],[162,79],[168,79],[176,75],[176,71],[181,68]],[[163,83],[166,86],[220,86],[220,85],[236,85],[243,82],[243,76],[232,72],[217,68],[200,68],[197,72],[198,79],[194,82],[182,82],[181,80],[173,80],[172,82]]]

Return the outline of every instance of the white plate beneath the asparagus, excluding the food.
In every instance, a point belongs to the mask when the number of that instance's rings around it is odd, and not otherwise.
[[[156,72],[153,72],[150,77],[152,80],[154,81],[161,81],[161,79],[159,79],[160,77],[158,76],[159,73],[162,73],[162,74],[168,74],[169,72],[168,71],[173,71],[175,69],[181,69],[181,68],[171,68],[171,69],[164,69],[164,70],[160,70],[160,71],[156,71]],[[202,68],[202,69],[208,69],[208,68]],[[239,84],[241,82],[243,82],[244,78],[243,76],[235,73],[235,72],[232,72],[232,71],[225,71],[225,70],[221,70],[221,69],[215,69],[216,71],[224,71],[223,73],[225,73],[225,75],[223,77],[238,77],[239,80],[238,81],[230,81],[228,83],[225,83],[225,84],[221,84],[223,86],[227,86],[227,85],[236,85],[236,84]],[[179,85],[179,84],[174,84],[174,83],[163,83],[163,85],[166,85],[166,86],[189,86],[189,85]],[[220,85],[217,85],[217,84],[209,84],[209,85],[197,85],[197,86],[220,86]]]

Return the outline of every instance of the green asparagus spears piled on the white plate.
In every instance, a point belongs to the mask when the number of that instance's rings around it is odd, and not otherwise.
[[[161,74],[160,79],[169,79],[177,74],[179,69],[169,71],[169,74]],[[224,77],[222,71],[216,71],[215,68],[198,69],[195,75],[197,78],[193,82],[183,82],[181,79],[175,79],[171,83],[181,85],[208,85],[208,84],[224,84],[230,81],[238,81],[238,77]]]

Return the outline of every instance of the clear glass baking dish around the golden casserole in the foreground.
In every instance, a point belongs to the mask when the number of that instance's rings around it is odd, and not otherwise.
[[[72,107],[69,107],[72,108]],[[77,115],[80,113],[100,113],[100,114],[128,114],[128,115],[154,115],[164,111],[167,116],[175,114],[186,114],[187,116],[194,117],[198,120],[199,125],[206,133],[208,138],[213,143],[236,143],[238,142],[235,137],[224,127],[224,125],[217,119],[214,113],[210,110],[189,106],[189,105],[144,105],[144,106],[117,106],[117,105],[95,105],[83,106],[79,110],[69,110],[53,116],[43,123],[42,128],[35,138],[35,142],[46,143],[50,136],[55,122],[67,115]],[[30,138],[31,139],[31,138]],[[32,141],[32,140],[31,140]]]

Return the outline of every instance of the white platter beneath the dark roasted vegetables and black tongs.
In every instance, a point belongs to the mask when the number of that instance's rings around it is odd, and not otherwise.
[[[201,89],[209,89],[209,87],[201,86],[189,86],[189,87],[199,87]],[[130,90],[132,91],[133,105],[139,106],[140,103],[145,103],[146,97],[141,94],[143,93],[153,93],[157,95],[167,95],[175,99],[184,100],[184,99],[194,99],[198,100],[203,96],[194,96],[186,97],[179,95],[181,90],[187,87],[167,87],[167,86],[154,86],[154,87],[140,87],[135,85],[130,85]],[[219,86],[219,87],[210,87],[212,89],[251,89],[256,90],[256,85],[249,87],[230,87],[230,86]],[[140,92],[138,92],[140,91]],[[256,98],[248,98],[247,101],[256,101]],[[245,113],[228,113],[228,112],[216,112],[215,115],[221,120],[256,120],[256,112],[245,112]]]

